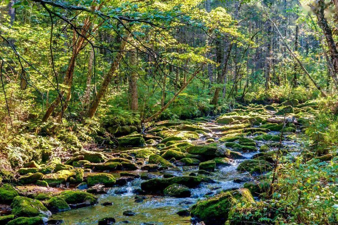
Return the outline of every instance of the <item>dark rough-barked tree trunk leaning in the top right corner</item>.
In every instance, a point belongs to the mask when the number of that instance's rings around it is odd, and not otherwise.
[[[335,2],[335,5],[336,5],[336,2]],[[337,8],[336,8],[336,10],[337,10]],[[325,2],[324,2],[324,0],[317,0],[316,1],[316,5],[314,6],[314,12],[315,12],[317,19],[318,19],[318,25],[323,30],[326,41],[328,43],[328,48],[329,48],[330,56],[331,56],[331,59],[332,59],[332,65],[333,65],[333,68],[335,70],[335,73],[334,73],[335,75],[334,75],[333,78],[337,82],[338,81],[338,79],[337,79],[337,74],[338,74],[338,50],[337,50],[336,43],[335,43],[335,41],[332,37],[332,30],[329,27],[329,24],[328,24],[328,22],[325,18]]]

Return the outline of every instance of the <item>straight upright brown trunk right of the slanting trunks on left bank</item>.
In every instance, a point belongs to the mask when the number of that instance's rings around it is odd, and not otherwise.
[[[137,59],[136,59],[136,49],[131,50],[130,52],[130,79],[129,79],[129,96],[130,96],[130,105],[131,110],[137,111],[138,110],[138,95],[137,95],[137,72],[135,69],[137,68]]]

